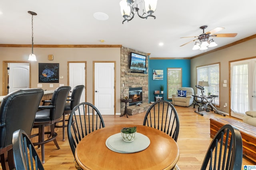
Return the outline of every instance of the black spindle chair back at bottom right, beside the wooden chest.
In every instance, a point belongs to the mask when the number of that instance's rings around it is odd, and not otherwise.
[[[224,125],[212,139],[201,170],[241,170],[242,156],[240,131],[232,125]]]

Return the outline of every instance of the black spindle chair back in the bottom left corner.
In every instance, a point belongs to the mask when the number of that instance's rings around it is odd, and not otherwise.
[[[22,129],[13,133],[12,148],[16,170],[44,170],[33,144]]]

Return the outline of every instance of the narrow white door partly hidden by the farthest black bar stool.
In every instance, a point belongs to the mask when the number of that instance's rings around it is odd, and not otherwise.
[[[85,85],[85,63],[69,63],[69,86],[71,87],[70,95],[74,87],[78,85]],[[82,92],[80,103],[85,102],[85,89]]]

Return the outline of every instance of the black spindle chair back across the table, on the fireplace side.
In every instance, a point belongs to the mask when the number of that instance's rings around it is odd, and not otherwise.
[[[178,114],[174,106],[166,100],[154,102],[148,108],[143,125],[163,131],[175,141],[178,139],[180,129]]]

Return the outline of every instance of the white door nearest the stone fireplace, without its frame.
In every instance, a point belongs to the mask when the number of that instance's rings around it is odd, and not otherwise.
[[[94,63],[94,105],[102,115],[114,115],[114,63]]]

